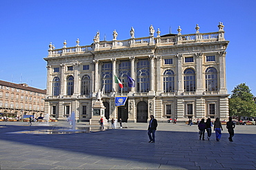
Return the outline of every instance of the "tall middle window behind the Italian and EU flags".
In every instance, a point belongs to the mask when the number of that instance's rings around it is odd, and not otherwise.
[[[122,85],[124,86],[122,88],[123,93],[129,92],[128,87],[128,81],[127,81],[127,75],[131,76],[130,74],[131,70],[131,63],[129,61],[121,61],[119,64],[119,80],[122,82]],[[121,92],[121,88],[118,86],[118,92]]]

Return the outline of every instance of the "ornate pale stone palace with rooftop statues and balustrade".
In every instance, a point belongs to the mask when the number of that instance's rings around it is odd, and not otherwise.
[[[160,35],[149,27],[149,36],[100,41],[97,32],[91,45],[55,49],[50,43],[47,61],[45,112],[66,119],[72,111],[77,120],[93,117],[93,104],[102,92],[105,118],[125,122],[169,118],[228,118],[226,47],[223,23],[217,32]],[[154,36],[156,34],[156,36]],[[135,80],[128,87],[127,75]],[[121,90],[115,76],[122,82]],[[116,107],[115,96],[128,96]]]

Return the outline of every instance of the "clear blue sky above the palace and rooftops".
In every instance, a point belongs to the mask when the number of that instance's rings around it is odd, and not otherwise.
[[[90,45],[97,30],[100,40],[111,41],[113,30],[118,40],[129,39],[134,27],[136,37],[149,36],[149,26],[160,28],[161,34],[193,34],[196,24],[200,32],[217,32],[225,25],[225,38],[230,41],[226,55],[227,87],[246,83],[256,96],[255,28],[256,1],[82,1],[82,0],[0,0],[0,79],[28,83],[46,88],[48,45],[62,48]]]

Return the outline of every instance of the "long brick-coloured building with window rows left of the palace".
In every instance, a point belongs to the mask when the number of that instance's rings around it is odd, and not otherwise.
[[[44,117],[46,90],[28,87],[26,83],[15,84],[0,81],[1,116],[19,117],[34,115]]]

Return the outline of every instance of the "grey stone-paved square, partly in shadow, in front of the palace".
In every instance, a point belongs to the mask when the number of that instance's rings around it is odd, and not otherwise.
[[[197,126],[183,123],[159,123],[156,143],[148,142],[146,123],[93,133],[10,133],[68,126],[49,125],[0,122],[0,169],[256,169],[255,125],[237,125],[234,142],[224,126],[220,142],[214,132],[203,141]]]

